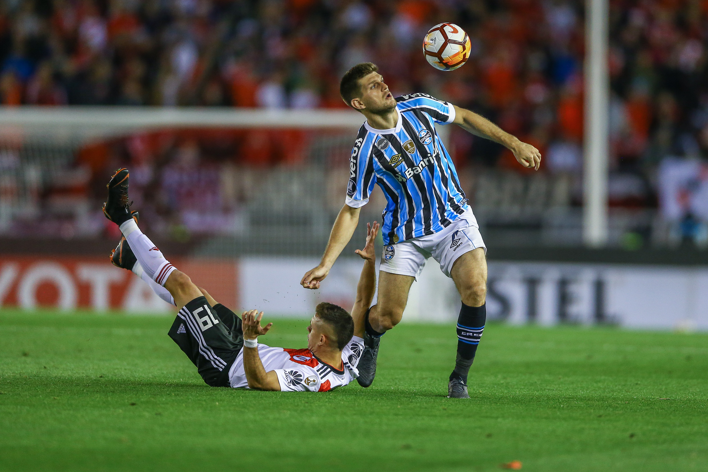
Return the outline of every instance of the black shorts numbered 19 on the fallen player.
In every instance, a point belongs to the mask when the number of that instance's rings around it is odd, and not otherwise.
[[[212,387],[228,387],[229,369],[244,347],[241,319],[222,304],[193,299],[177,313],[169,336]]]

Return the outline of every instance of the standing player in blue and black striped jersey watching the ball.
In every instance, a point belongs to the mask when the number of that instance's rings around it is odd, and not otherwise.
[[[366,122],[349,160],[346,203],[334,222],[321,262],[300,284],[319,288],[352,237],[360,209],[378,184],[388,201],[382,215],[384,253],[378,302],[365,317],[365,350],[357,380],[365,387],[374,381],[380,338],[401,321],[411,284],[432,255],[440,270],[455,281],[462,297],[457,358],[448,396],[469,398],[467,374],[486,321],[486,246],[435,123],[455,123],[476,136],[503,144],[527,168],[538,170],[541,154],[484,117],[425,93],[394,98],[377,71],[375,64],[364,62],[342,78],[343,100],[362,113]]]

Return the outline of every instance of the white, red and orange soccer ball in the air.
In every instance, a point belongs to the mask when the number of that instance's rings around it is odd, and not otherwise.
[[[428,64],[441,71],[454,71],[469,59],[472,42],[462,28],[452,23],[433,26],[423,40]]]

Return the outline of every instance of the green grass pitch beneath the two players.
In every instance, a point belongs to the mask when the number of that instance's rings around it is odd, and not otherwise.
[[[708,471],[708,335],[491,324],[459,401],[452,326],[388,333],[370,388],[280,393],[206,386],[170,324],[1,311],[0,470]]]

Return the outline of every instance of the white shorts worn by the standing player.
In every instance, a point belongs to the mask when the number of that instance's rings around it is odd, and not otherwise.
[[[432,255],[440,263],[442,273],[450,277],[455,260],[464,253],[486,246],[472,210],[464,212],[457,221],[435,234],[407,239],[384,246],[379,270],[392,274],[421,275],[426,260]]]

